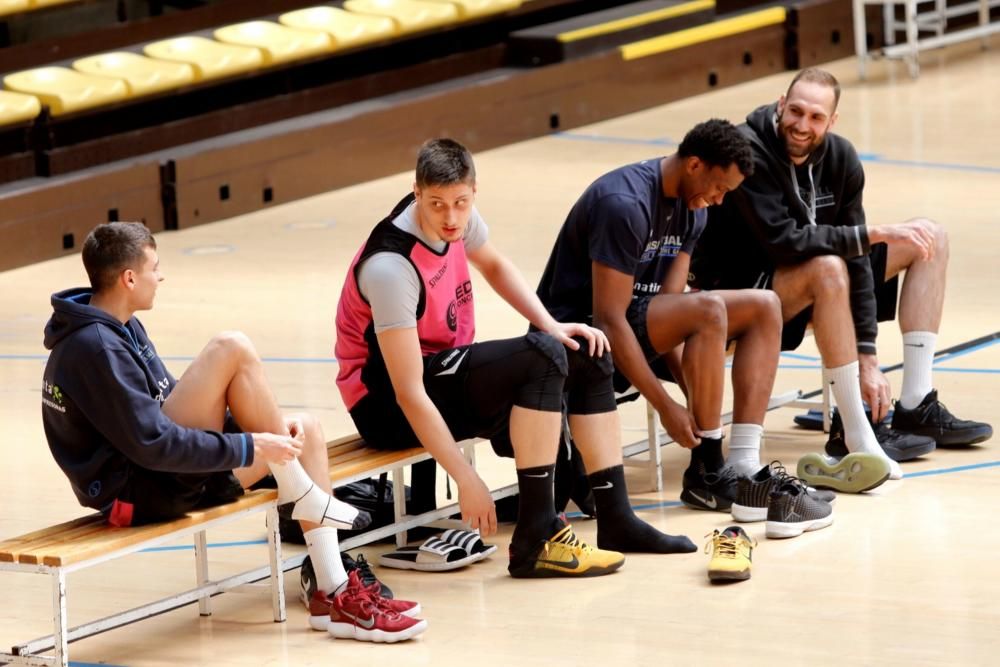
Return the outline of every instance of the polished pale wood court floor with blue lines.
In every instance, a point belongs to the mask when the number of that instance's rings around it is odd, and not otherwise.
[[[1000,330],[1000,52],[963,47],[922,56],[918,81],[900,64],[877,64],[859,82],[853,59],[831,65],[844,95],[838,130],[865,156],[865,202],[874,224],[932,217],[950,233],[952,270],[940,347]],[[537,281],[556,230],[583,188],[613,167],[671,152],[695,122],[734,121],[775,99],[790,75],[482,153],[478,205],[491,238]],[[665,82],[665,85],[666,82]],[[330,437],[352,431],[334,386],[333,318],[343,276],[369,228],[406,192],[400,174],[238,219],[158,237],[166,282],[142,316],[175,374],[214,332],[247,332],[268,360],[283,406],[319,415]],[[95,221],[96,222],[96,221]],[[0,273],[0,538],[84,513],[47,451],[39,419],[49,294],[83,284],[78,257]],[[480,338],[515,335],[524,323],[481,288]],[[881,361],[902,359],[884,326]],[[783,359],[778,390],[819,387],[815,349]],[[938,363],[935,384],[961,416],[1000,424],[1000,346]],[[898,386],[900,376],[890,376]],[[765,456],[794,466],[822,446],[792,427],[789,410],[767,420]],[[623,438],[641,437],[627,408]],[[753,578],[709,585],[707,556],[633,556],[618,574],[525,582],[505,574],[510,527],[498,554],[463,571],[380,569],[397,595],[419,600],[429,630],[397,646],[336,641],[312,632],[293,599],[289,620],[270,621],[266,588],[215,598],[215,614],[187,607],[71,645],[80,664],[160,665],[990,665],[1000,663],[1000,456],[996,440],[907,463],[907,478],[866,496],[841,496],[836,522],[787,541],[761,525]],[[484,450],[485,451],[485,450]],[[684,456],[664,450],[665,490],[649,493],[629,472],[641,516],[696,542],[728,517],[676,505]],[[507,461],[483,457],[490,479]],[[592,522],[578,532],[593,538]],[[260,563],[257,521],[210,534],[213,571]],[[365,550],[374,558],[380,549]],[[131,556],[69,580],[70,622],[105,615],[193,583],[189,550]],[[37,580],[37,581],[36,581]],[[0,645],[51,631],[44,577],[0,573]]]

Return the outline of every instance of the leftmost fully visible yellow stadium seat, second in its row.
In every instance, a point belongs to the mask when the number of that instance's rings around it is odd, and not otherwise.
[[[81,74],[66,67],[39,67],[8,74],[8,90],[34,95],[53,116],[113,104],[129,97],[121,79]]]

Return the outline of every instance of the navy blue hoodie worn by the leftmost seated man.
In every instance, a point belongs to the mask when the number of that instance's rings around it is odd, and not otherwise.
[[[146,330],[92,307],[90,296],[87,288],[52,295],[42,383],[45,437],[80,504],[108,509],[133,465],[208,473],[252,463],[250,434],[185,428],[163,413],[177,382]]]

